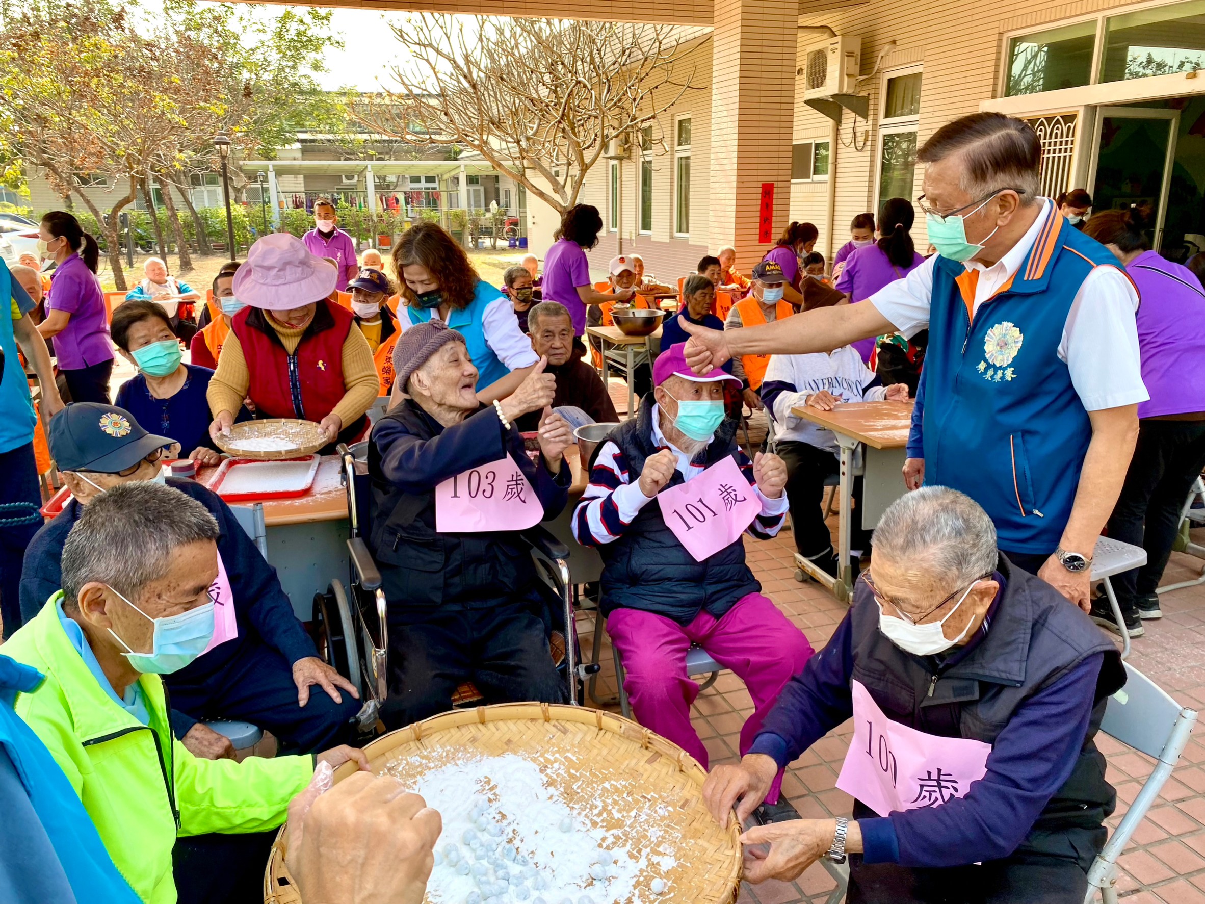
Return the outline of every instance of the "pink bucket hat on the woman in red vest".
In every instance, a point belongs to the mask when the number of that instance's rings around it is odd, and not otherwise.
[[[251,246],[230,288],[252,307],[287,311],[327,298],[335,290],[339,271],[296,236],[272,233]]]

